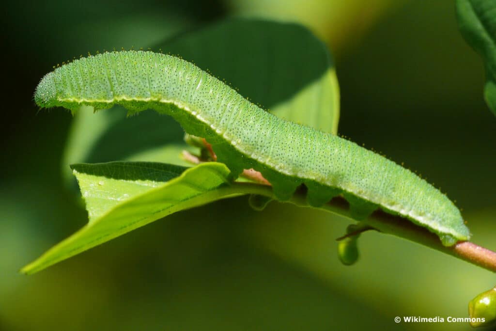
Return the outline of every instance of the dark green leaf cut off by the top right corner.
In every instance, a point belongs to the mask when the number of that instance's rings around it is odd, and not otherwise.
[[[460,31],[486,67],[484,98],[496,115],[496,1],[457,0]]]

